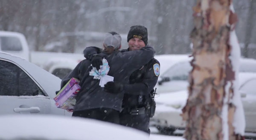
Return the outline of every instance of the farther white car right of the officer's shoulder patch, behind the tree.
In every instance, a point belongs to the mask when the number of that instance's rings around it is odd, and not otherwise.
[[[167,58],[167,56],[166,56]],[[192,70],[190,65],[191,58],[179,58],[164,73],[160,75],[157,81],[157,93],[175,92],[180,90],[186,90],[188,87],[188,75]],[[171,61],[170,59],[169,61]],[[160,62],[160,73],[161,68],[166,67],[167,63],[161,64]],[[256,73],[256,60],[255,59],[240,59],[239,63],[240,72],[253,72]]]

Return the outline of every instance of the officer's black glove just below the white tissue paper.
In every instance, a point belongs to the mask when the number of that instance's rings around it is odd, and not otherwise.
[[[118,82],[108,82],[107,84],[104,85],[104,90],[105,92],[110,92],[110,93],[119,93],[122,92],[124,89],[124,85]]]

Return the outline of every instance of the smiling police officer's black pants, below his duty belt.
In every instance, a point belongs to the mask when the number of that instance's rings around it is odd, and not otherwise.
[[[123,126],[139,129],[143,132],[150,134],[148,115],[131,115],[129,114],[129,112],[121,112],[119,114],[119,119],[120,124]]]

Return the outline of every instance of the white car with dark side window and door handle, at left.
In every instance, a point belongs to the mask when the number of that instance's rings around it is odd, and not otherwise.
[[[0,52],[0,115],[70,112],[55,106],[61,79],[25,59]]]

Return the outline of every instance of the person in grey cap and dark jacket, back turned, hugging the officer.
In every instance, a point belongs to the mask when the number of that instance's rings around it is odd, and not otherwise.
[[[154,49],[151,47],[120,53],[121,36],[119,34],[107,34],[103,45],[104,50],[97,56],[104,57],[108,61],[110,67],[108,75],[113,76],[114,81],[118,83],[128,84],[132,71],[149,62],[154,56]],[[139,55],[143,55],[145,58],[142,61],[137,61],[140,58]],[[97,56],[94,56],[94,58]],[[126,62],[127,59],[130,59],[130,61]],[[122,65],[125,62],[126,65]],[[119,123],[119,112],[122,110],[124,92],[119,92],[119,94],[105,92],[99,86],[99,80],[89,76],[91,70],[91,61],[85,59],[61,82],[61,87],[64,87],[72,77],[80,80],[81,89],[76,96],[72,116]]]

